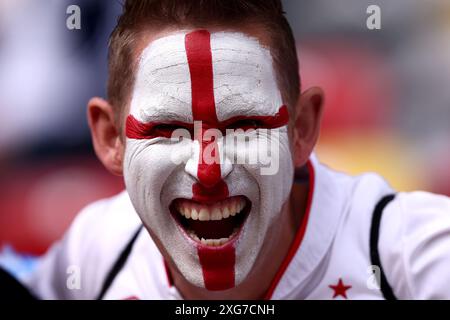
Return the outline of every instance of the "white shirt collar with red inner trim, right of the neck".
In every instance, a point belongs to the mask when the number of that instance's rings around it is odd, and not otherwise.
[[[286,257],[289,261],[285,269],[280,270],[279,279],[267,298],[283,299],[294,290],[305,287],[308,278],[328,252],[345,211],[345,182],[340,181],[345,176],[320,164],[314,154],[308,167],[310,191],[304,221],[289,252],[292,257],[289,254]]]

